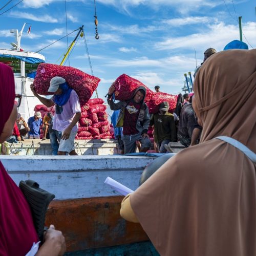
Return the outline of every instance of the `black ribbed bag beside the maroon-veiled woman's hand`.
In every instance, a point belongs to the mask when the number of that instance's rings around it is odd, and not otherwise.
[[[46,211],[55,195],[39,188],[39,184],[33,180],[19,182],[19,188],[23,191],[29,203],[37,236],[42,242],[44,238]]]

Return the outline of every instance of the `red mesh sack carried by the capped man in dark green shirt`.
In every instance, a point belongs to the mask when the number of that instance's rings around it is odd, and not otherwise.
[[[159,92],[153,93],[152,99],[146,102],[150,114],[157,113],[159,111],[159,104],[163,101],[167,101],[169,103],[169,112],[174,112],[176,108],[177,96]]]

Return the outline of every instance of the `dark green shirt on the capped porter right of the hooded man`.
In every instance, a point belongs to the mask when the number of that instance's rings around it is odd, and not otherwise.
[[[163,140],[175,141],[176,128],[174,116],[172,114],[154,114],[150,120],[150,125],[154,125],[154,139],[157,143],[160,143]]]

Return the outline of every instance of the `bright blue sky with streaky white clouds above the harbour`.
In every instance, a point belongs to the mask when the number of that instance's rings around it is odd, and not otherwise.
[[[95,39],[94,1],[13,0],[0,11],[0,48],[10,49],[10,29],[25,28],[22,48],[38,51],[84,25],[93,73],[101,79],[100,97],[121,74],[130,75],[154,90],[178,94],[184,73],[192,72],[204,51],[221,51],[239,39],[238,16],[249,49],[256,47],[255,0],[96,0],[99,40]],[[0,1],[0,9],[8,0]],[[67,9],[67,27],[66,27]],[[69,43],[76,32],[68,37]],[[245,37],[243,40],[247,43]],[[59,64],[67,39],[40,51],[49,63]],[[84,41],[78,40],[66,66],[91,74]]]

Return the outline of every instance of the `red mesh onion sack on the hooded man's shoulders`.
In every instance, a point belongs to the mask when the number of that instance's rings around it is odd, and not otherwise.
[[[146,98],[145,101],[151,99],[153,91],[148,89],[145,84],[139,80],[132,78],[126,74],[120,75],[115,81],[115,99],[125,101],[132,98],[136,89],[140,86],[143,86],[146,89]]]

